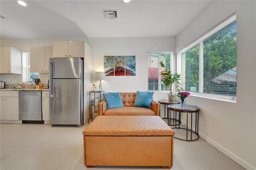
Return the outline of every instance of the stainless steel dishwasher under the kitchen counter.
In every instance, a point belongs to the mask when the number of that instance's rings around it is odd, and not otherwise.
[[[44,123],[41,91],[19,92],[19,120],[22,123]]]

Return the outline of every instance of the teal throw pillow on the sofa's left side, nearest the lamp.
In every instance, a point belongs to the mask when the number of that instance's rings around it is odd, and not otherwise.
[[[119,92],[116,93],[104,93],[104,99],[107,102],[107,109],[124,107]]]

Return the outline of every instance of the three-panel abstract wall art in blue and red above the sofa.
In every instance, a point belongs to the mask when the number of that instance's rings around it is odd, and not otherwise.
[[[106,76],[136,76],[136,56],[104,56]]]

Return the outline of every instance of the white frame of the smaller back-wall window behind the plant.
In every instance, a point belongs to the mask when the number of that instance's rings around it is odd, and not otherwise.
[[[161,90],[161,66],[159,64],[159,62],[161,62],[161,53],[170,53],[170,67],[171,67],[171,71],[173,72],[173,54],[174,54],[174,50],[148,50],[149,52],[154,52],[154,53],[158,53],[158,90],[148,90],[150,92],[158,92],[158,93],[170,93],[170,91],[162,91]],[[148,83],[149,84],[149,83]]]

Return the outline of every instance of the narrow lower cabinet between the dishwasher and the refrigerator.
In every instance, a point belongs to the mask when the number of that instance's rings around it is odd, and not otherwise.
[[[44,124],[50,123],[50,100],[49,100],[49,92],[42,92],[42,114]]]

